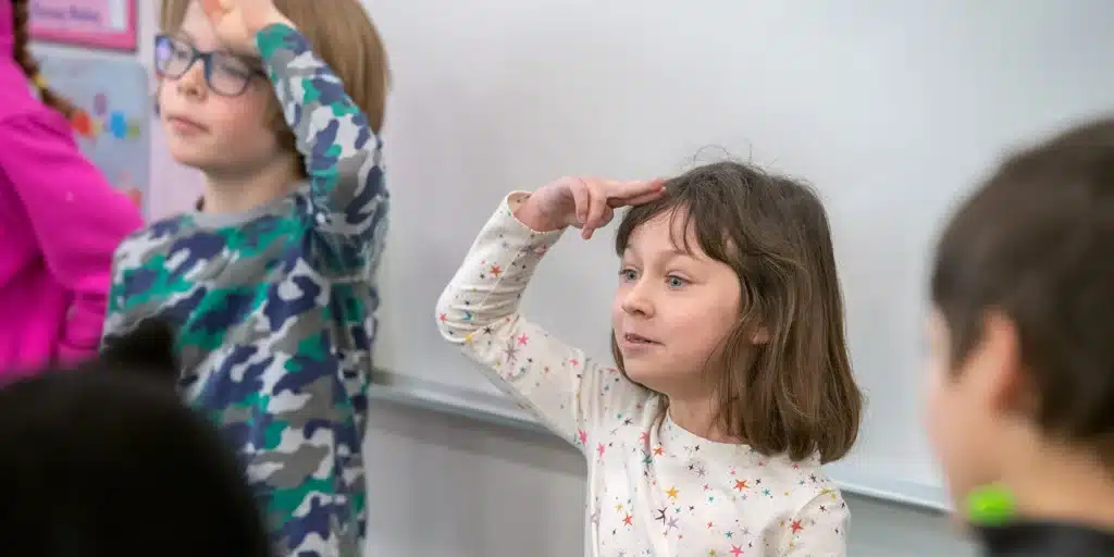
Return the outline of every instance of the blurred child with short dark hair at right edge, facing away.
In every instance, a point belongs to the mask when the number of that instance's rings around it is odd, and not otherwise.
[[[931,296],[948,487],[1014,507],[967,517],[985,554],[1114,556],[1114,119],[1009,158],[948,224]]]

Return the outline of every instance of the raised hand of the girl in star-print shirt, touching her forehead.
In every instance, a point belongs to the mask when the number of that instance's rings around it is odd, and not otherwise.
[[[530,195],[515,216],[539,232],[573,226],[580,236],[592,237],[607,225],[618,207],[642,205],[665,193],[665,180],[619,182],[565,177]]]

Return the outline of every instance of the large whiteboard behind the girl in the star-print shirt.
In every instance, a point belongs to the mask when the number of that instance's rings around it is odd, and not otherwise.
[[[830,213],[869,397],[833,478],[946,507],[920,427],[930,247],[1004,149],[1112,107],[1108,0],[367,6],[394,71],[377,344],[393,387],[381,397],[529,421],[434,326],[438,295],[480,226],[512,189],[566,174],[673,175],[722,147],[809,180]],[[566,235],[524,305],[598,356],[609,354],[612,236]]]

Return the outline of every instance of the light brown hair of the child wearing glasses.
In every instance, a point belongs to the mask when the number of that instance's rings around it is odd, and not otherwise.
[[[159,30],[177,32],[192,1],[163,0]],[[274,0],[274,4],[310,40],[313,52],[340,77],[344,90],[368,116],[371,129],[380,133],[390,68],[387,48],[364,7],[358,0]],[[278,99],[272,97],[266,110],[280,145],[296,153],[294,133],[283,118]]]

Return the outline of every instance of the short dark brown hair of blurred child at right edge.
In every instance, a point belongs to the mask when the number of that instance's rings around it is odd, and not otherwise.
[[[947,225],[931,296],[952,369],[990,314],[1008,319],[1033,419],[1114,467],[1114,119],[1008,158]]]

